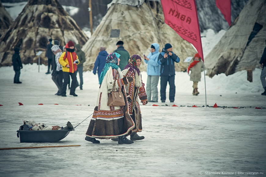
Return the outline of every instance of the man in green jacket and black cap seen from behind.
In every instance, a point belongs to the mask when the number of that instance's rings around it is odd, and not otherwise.
[[[115,51],[113,51],[113,52],[120,54],[119,68],[121,69],[121,71],[124,70],[125,66],[128,64],[128,60],[130,58],[128,51],[124,49],[123,45],[124,45],[123,41],[118,41],[116,43],[117,49]]]

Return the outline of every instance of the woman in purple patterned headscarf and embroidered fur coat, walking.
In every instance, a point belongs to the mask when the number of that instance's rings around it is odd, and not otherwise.
[[[126,92],[129,95],[129,100],[132,100],[128,104],[129,115],[136,125],[132,130],[133,133],[130,135],[130,139],[135,141],[144,139],[144,136],[137,135],[137,132],[142,131],[141,112],[138,100],[140,99],[142,105],[146,105],[148,103],[148,100],[144,88],[144,83],[142,82],[141,73],[139,71],[139,66],[141,65],[141,57],[139,55],[132,55],[128,63],[129,64],[126,65],[122,73],[123,76],[131,76],[133,78],[133,82],[126,85]]]

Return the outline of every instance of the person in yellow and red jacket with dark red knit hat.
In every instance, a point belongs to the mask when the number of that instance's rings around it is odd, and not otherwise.
[[[65,45],[66,51],[59,57],[59,63],[62,65],[62,71],[64,75],[64,83],[60,89],[62,97],[66,97],[66,88],[69,82],[69,76],[71,76],[72,82],[70,87],[70,95],[78,96],[75,94],[77,76],[75,71],[77,70],[77,64],[79,64],[79,58],[74,49],[74,43],[69,41]]]

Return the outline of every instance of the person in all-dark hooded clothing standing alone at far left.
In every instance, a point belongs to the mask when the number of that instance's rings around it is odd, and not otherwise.
[[[20,56],[19,56],[19,48],[15,47],[14,51],[15,53],[12,56],[13,69],[15,71],[14,83],[22,83],[19,81],[20,69],[23,68],[21,60],[20,60]]]

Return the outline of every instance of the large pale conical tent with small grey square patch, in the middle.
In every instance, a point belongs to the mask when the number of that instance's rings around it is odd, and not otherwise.
[[[157,42],[160,52],[165,43],[170,43],[173,52],[180,58],[175,64],[176,71],[185,71],[187,63],[183,61],[188,56],[194,56],[196,50],[183,40],[171,27],[164,23],[161,2],[139,3],[138,6],[113,3],[103,17],[91,38],[83,46],[86,62],[83,70],[92,70],[94,61],[101,46],[106,47],[108,53],[116,50],[116,42],[122,40],[124,48],[130,55],[146,56],[150,53],[150,46]],[[155,9],[155,10],[154,10]],[[141,71],[146,71],[146,64],[142,60]]]

